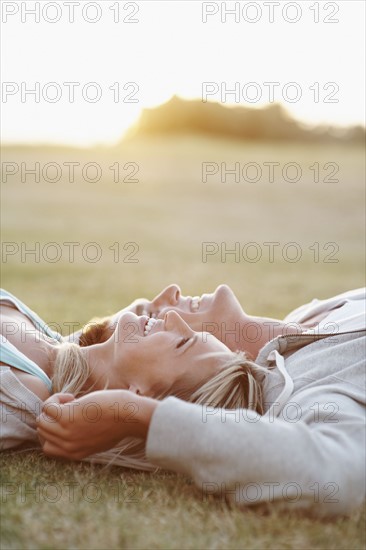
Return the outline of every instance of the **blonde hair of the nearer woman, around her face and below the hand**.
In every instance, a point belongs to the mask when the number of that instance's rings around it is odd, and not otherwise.
[[[249,361],[243,352],[207,355],[211,356],[213,361],[221,362],[218,374],[196,387],[189,385],[187,380],[180,380],[174,387],[160,393],[156,398],[163,399],[173,395],[198,405],[224,409],[252,409],[263,414],[261,386],[268,372],[267,369]],[[88,385],[89,381],[90,367],[82,349],[77,344],[60,344],[52,378],[53,391],[69,392],[78,397],[92,391],[93,388]],[[146,459],[144,442],[134,437],[125,438],[113,449],[84,460],[139,470],[157,469]]]

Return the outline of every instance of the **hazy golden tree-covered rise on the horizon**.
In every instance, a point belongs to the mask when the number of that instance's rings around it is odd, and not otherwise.
[[[166,133],[200,133],[242,140],[365,141],[363,126],[310,127],[292,118],[282,105],[228,107],[216,102],[173,96],[154,109],[144,109],[126,137]]]

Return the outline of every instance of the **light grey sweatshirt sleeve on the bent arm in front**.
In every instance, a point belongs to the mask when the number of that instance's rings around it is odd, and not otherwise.
[[[365,417],[356,401],[337,400],[331,422],[329,410],[324,418],[309,410],[293,423],[169,397],[153,414],[147,457],[192,477],[203,500],[349,514],[365,496]]]

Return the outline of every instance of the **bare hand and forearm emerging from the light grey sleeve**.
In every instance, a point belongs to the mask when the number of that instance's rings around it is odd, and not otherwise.
[[[37,430],[45,454],[80,460],[121,439],[146,438],[158,402],[126,390],[104,390],[79,399],[56,393],[45,401]]]

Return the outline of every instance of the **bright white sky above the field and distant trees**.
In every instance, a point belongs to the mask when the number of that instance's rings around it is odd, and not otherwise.
[[[36,4],[1,2],[4,142],[115,143],[141,109],[174,94],[202,99],[205,82],[213,83],[208,99],[257,107],[271,99],[264,83],[279,83],[273,85],[274,99],[300,120],[364,124],[363,0],[43,0],[39,22],[27,11]],[[237,5],[226,22],[222,4]],[[73,103],[72,85],[65,82],[79,83],[73,85]],[[39,102],[26,94],[37,86]],[[221,98],[221,91],[235,86],[239,97]],[[96,93],[100,99],[90,102]],[[297,102],[289,101],[300,93]],[[122,101],[128,96],[135,102]]]

